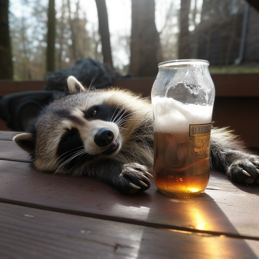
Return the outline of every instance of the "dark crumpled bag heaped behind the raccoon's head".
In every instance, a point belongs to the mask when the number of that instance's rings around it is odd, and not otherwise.
[[[42,108],[63,93],[66,80],[75,76],[83,85],[102,88],[112,84],[111,76],[98,61],[78,60],[74,66],[48,73],[44,90],[5,95],[0,99],[0,117],[14,131],[25,131]]]

